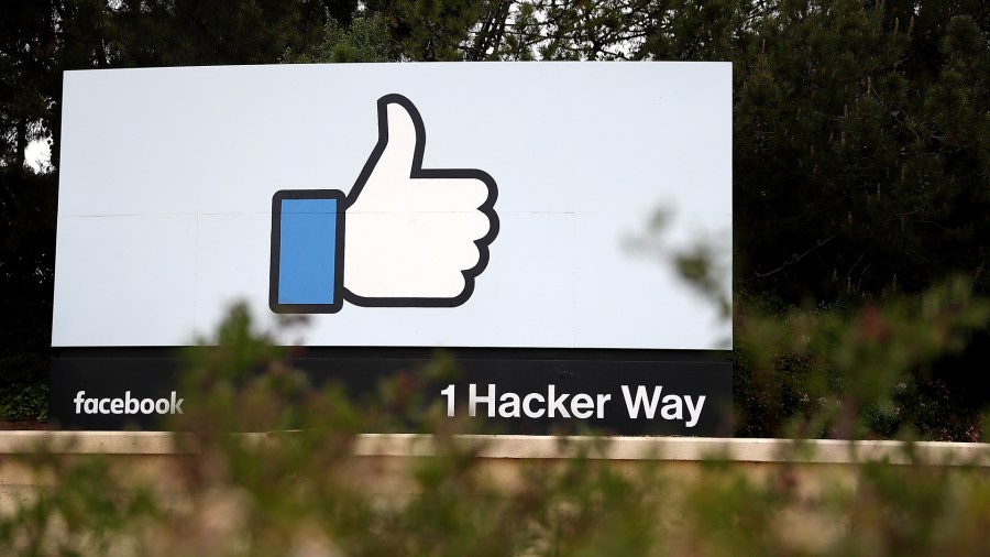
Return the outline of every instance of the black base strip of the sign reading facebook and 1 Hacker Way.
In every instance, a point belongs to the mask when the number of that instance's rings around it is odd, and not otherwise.
[[[155,429],[185,412],[178,349],[61,349],[54,359],[54,428]],[[455,381],[425,387],[451,417],[481,430],[546,435],[729,437],[732,364],[725,352],[658,350],[452,349]],[[355,397],[381,380],[420,369],[429,349],[309,348],[292,359],[319,385],[343,384]],[[358,398],[355,398],[358,400]],[[400,417],[400,416],[399,416]],[[399,419],[398,422],[402,422]],[[380,433],[380,432],[369,432]]]

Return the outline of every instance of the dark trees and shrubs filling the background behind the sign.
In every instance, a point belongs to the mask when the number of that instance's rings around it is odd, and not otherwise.
[[[981,439],[988,6],[0,2],[0,417],[44,419],[47,407],[65,70],[730,61],[736,435]],[[662,132],[645,130],[642,141]],[[28,152],[37,142],[52,157],[35,168]],[[703,261],[681,263],[712,278]]]

